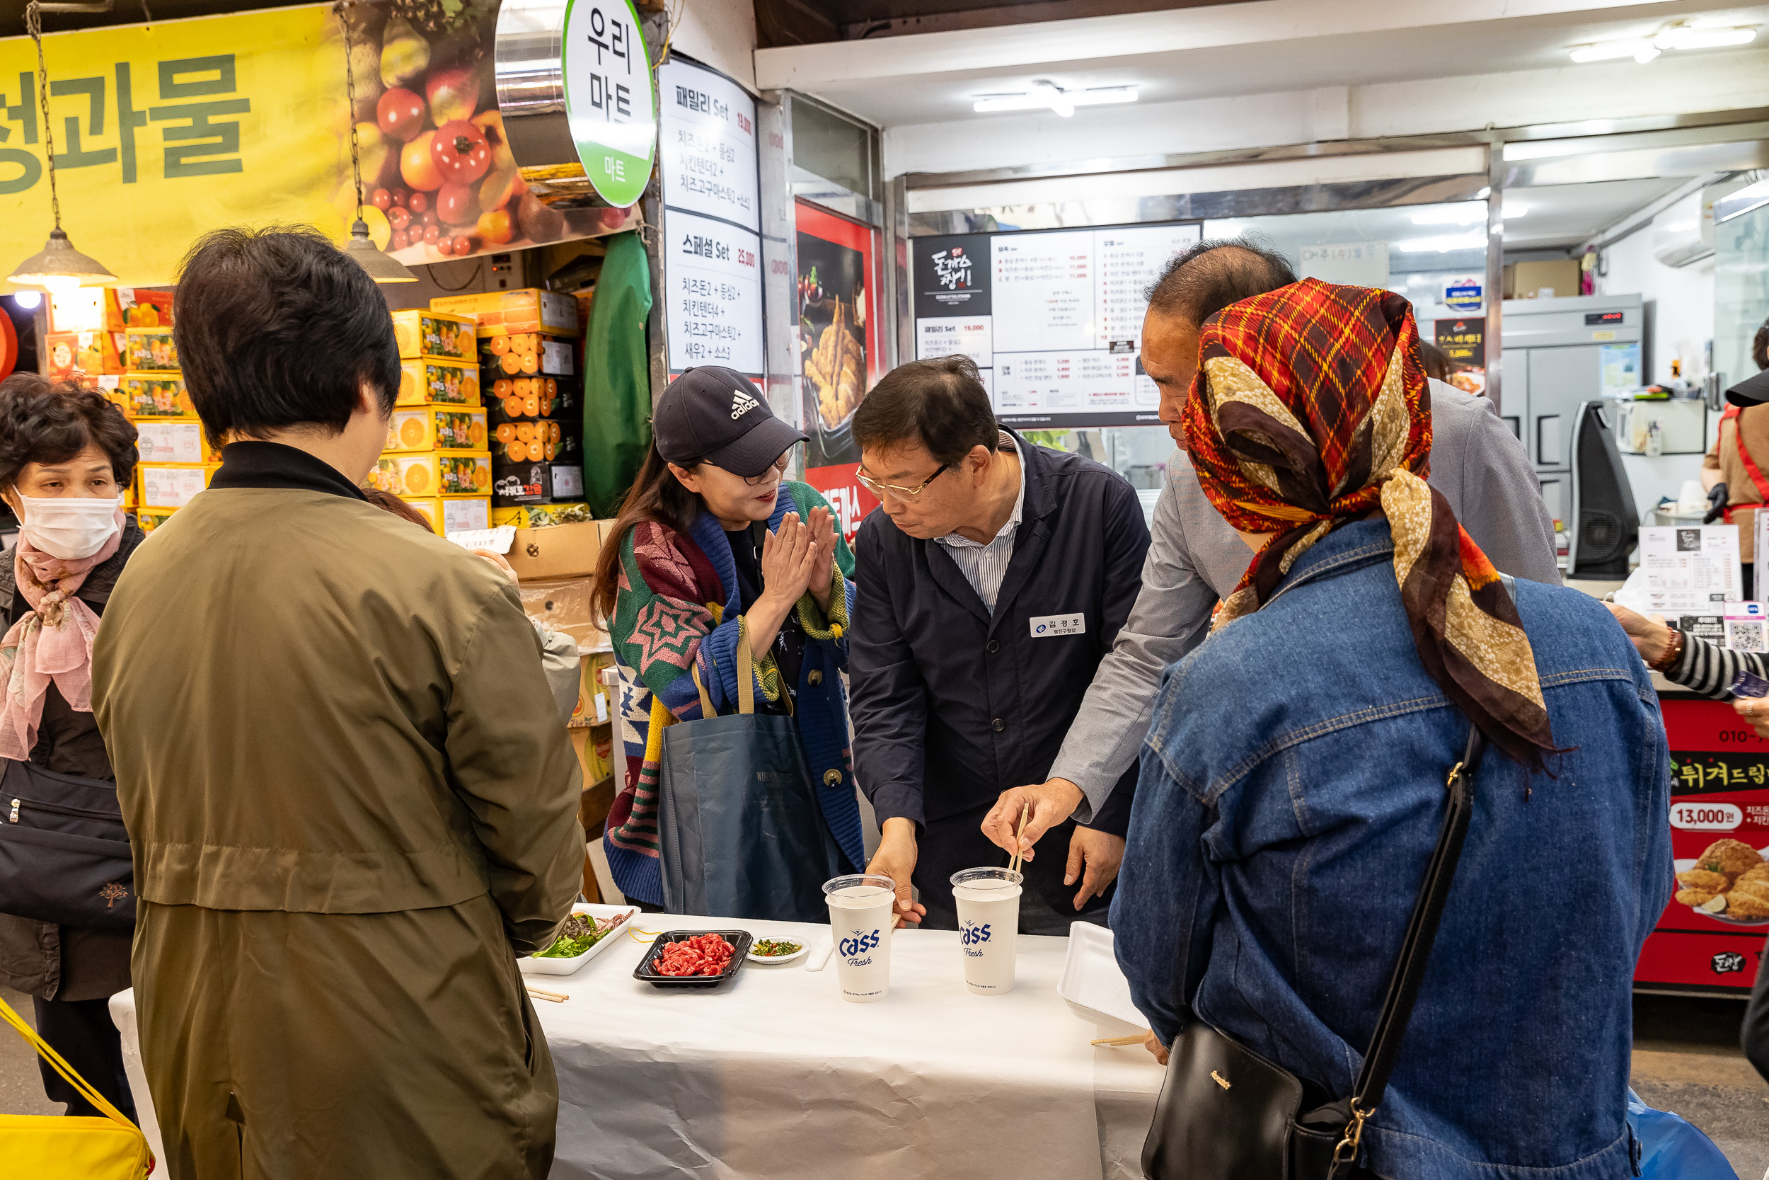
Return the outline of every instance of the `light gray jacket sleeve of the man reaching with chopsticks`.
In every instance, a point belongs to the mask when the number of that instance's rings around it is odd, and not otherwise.
[[[1093,819],[1118,778],[1136,762],[1148,734],[1160,672],[1196,647],[1210,628],[1217,593],[1192,563],[1187,524],[1196,522],[1189,520],[1180,504],[1175,490],[1180,479],[1189,479],[1192,488],[1198,485],[1191,465],[1175,453],[1168,464],[1168,485],[1155,502],[1155,527],[1143,561],[1143,589],[1118,640],[1100,660],[1081,711],[1051,764],[1051,778],[1067,778],[1084,794],[1076,808],[1077,823]],[[1228,531],[1228,538],[1242,545],[1215,510],[1210,510],[1210,517],[1219,531]],[[1242,570],[1247,559],[1251,552],[1242,547]]]

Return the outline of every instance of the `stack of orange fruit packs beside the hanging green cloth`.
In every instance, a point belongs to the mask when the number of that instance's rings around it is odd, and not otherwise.
[[[492,504],[584,499],[584,386],[577,299],[525,288],[432,299],[472,315],[492,430]]]

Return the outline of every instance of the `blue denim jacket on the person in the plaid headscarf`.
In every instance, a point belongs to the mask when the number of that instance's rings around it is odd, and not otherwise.
[[[1672,888],[1647,672],[1592,598],[1516,584],[1553,738],[1489,750],[1367,1166],[1396,1180],[1629,1176],[1635,959]],[[1111,923],[1164,1044],[1196,1014],[1350,1093],[1468,718],[1419,662],[1387,522],[1297,559],[1169,667]]]

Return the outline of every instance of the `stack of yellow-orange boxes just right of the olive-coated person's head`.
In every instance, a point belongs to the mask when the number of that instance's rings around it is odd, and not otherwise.
[[[363,487],[393,492],[437,533],[486,529],[492,453],[472,317],[409,308],[393,313],[393,336],[400,393],[387,446]]]

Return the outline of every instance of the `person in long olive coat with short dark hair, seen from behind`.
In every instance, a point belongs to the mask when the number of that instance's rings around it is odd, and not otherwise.
[[[221,230],[173,320],[228,444],[119,579],[92,674],[166,1173],[538,1180],[557,1083],[517,955],[570,915],[584,831],[534,628],[357,488],[400,368],[356,262]]]

